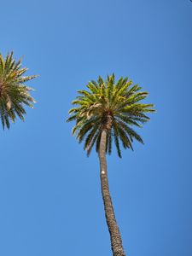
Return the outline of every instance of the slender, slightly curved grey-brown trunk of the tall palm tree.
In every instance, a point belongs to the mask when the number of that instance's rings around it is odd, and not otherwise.
[[[117,225],[117,222],[114,216],[113,204],[112,204],[112,200],[111,200],[111,196],[108,188],[106,140],[107,140],[107,131],[103,130],[100,148],[99,148],[102,200],[104,203],[105,216],[108,224],[108,231],[110,233],[110,238],[111,238],[111,247],[113,251],[113,256],[125,256],[122,240],[119,232],[119,227]]]

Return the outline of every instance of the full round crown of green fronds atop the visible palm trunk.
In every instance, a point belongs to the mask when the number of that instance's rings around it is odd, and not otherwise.
[[[99,151],[102,130],[107,131],[106,153],[111,154],[112,140],[116,145],[119,157],[121,151],[119,141],[124,148],[132,148],[133,140],[143,143],[131,126],[142,127],[149,120],[146,113],[154,112],[153,104],[140,103],[148,92],[139,91],[138,84],[132,85],[128,78],[120,78],[115,83],[114,74],[104,81],[99,77],[97,82],[87,84],[89,90],[79,90],[79,96],[72,102],[77,108],[70,109],[72,116],[67,121],[76,120],[73,135],[81,143],[84,139],[84,149],[90,154],[96,144]]]

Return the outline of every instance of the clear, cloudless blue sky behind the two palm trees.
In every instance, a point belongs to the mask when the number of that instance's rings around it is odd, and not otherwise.
[[[12,49],[40,76],[26,122],[0,131],[0,255],[111,255],[97,155],[65,119],[77,90],[115,73],[157,108],[145,145],[108,158],[125,252],[191,256],[192,3],[2,0],[0,51]]]

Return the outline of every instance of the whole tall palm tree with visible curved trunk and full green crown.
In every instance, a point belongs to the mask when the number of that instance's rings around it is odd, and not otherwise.
[[[99,77],[97,82],[89,82],[89,90],[78,91],[79,96],[72,102],[77,108],[70,109],[72,116],[67,119],[76,121],[73,135],[76,134],[79,143],[84,140],[84,149],[88,155],[96,144],[100,160],[102,200],[113,256],[125,256],[125,252],[108,188],[106,154],[111,154],[114,143],[121,158],[119,141],[124,148],[132,150],[134,139],[143,143],[142,137],[131,126],[142,127],[149,120],[146,113],[154,112],[153,104],[140,103],[148,96],[148,92],[139,92],[141,87],[131,84],[131,80],[122,77],[115,83],[114,75],[108,76],[106,81]]]

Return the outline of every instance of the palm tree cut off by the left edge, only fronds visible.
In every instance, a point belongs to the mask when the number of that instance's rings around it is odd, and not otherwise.
[[[15,61],[13,51],[3,56],[0,54],[0,116],[3,129],[9,129],[10,120],[15,122],[16,116],[24,121],[26,113],[23,105],[33,108],[35,102],[30,95],[32,88],[26,86],[27,81],[37,76],[23,76],[27,68],[21,68],[21,60]]]

